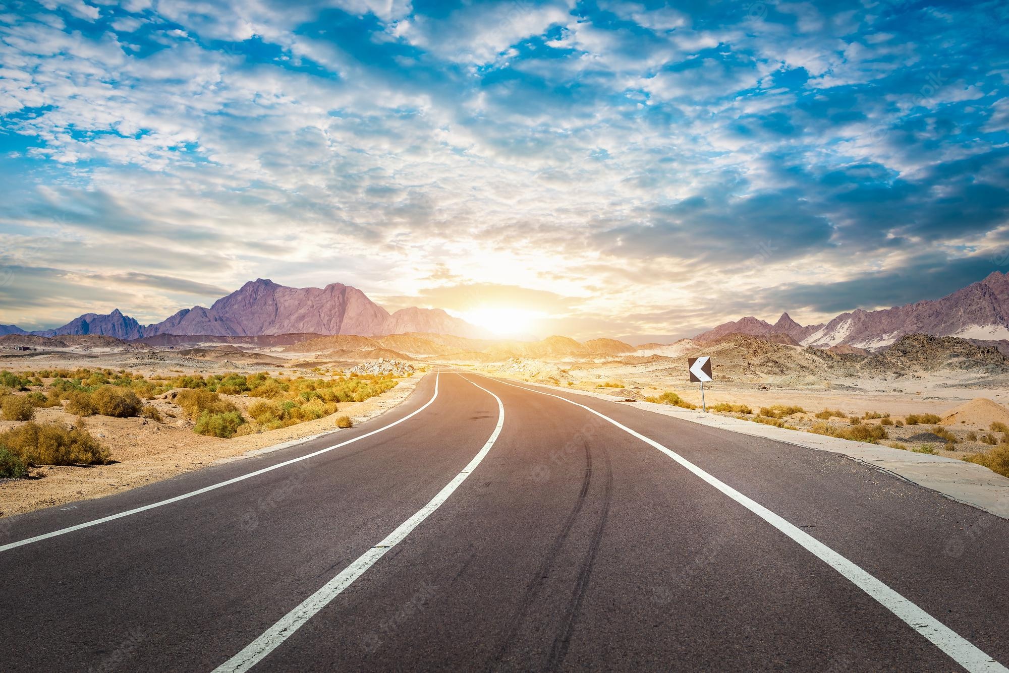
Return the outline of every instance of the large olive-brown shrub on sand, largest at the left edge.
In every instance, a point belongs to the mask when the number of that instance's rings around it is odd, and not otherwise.
[[[109,451],[82,426],[66,428],[58,423],[29,421],[0,433],[6,446],[26,465],[104,463]]]

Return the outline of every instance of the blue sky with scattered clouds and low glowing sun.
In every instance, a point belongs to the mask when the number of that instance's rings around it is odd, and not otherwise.
[[[0,3],[0,323],[254,278],[695,334],[1009,270],[1009,4]]]

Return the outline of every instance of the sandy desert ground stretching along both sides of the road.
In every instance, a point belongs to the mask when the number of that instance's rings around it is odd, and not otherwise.
[[[593,391],[628,404],[649,399],[689,407],[700,406],[701,398],[699,386],[688,382],[687,358],[704,354],[714,365],[715,380],[705,385],[710,413],[950,457],[984,453],[1009,440],[1009,359],[964,340],[911,339],[876,355],[830,353],[742,334],[716,344],[646,349],[613,346],[620,343],[611,340],[494,343],[424,333],[231,341],[244,343],[0,338],[0,370],[16,376],[104,370],[160,385],[156,395],[148,391],[142,400],[144,411],[129,417],[95,413],[82,418],[66,399],[35,409],[30,422],[84,429],[108,449],[107,461],[31,465],[25,477],[0,480],[0,516],[116,493],[256,449],[337,432],[336,418],[349,416],[359,423],[380,414],[404,400],[424,371],[438,366]],[[219,399],[247,422],[233,436],[198,433],[196,419],[176,398],[184,388],[165,388],[175,385],[166,382],[230,375],[298,380],[302,387],[307,381],[328,385],[348,377],[395,387],[363,401],[341,401],[336,411],[326,407],[318,418],[283,427],[254,421],[262,393],[221,387]],[[50,376],[5,392],[40,400],[52,396],[57,383]],[[2,420],[0,433],[27,422]]]

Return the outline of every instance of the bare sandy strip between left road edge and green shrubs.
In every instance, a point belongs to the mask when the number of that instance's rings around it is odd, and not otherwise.
[[[81,366],[80,363],[74,365]],[[110,448],[111,458],[116,462],[93,466],[49,465],[32,470],[33,475],[44,475],[41,478],[0,480],[0,517],[107,496],[216,461],[235,459],[251,450],[324,432],[338,433],[340,430],[333,426],[336,416],[348,415],[355,425],[373,418],[405,400],[422,376],[415,374],[411,378],[400,379],[396,388],[364,402],[342,403],[333,416],[231,439],[196,434],[191,429],[193,423],[181,417],[173,419],[164,416],[165,422],[158,423],[145,418],[91,416],[86,419],[89,431]],[[241,397],[228,399],[242,406],[249,401]],[[159,406],[156,401],[154,404]],[[166,403],[160,403],[160,406],[162,412],[167,410]],[[62,409],[51,408],[39,409],[35,420],[70,425],[77,422],[77,417]],[[0,421],[0,431],[17,424]]]

